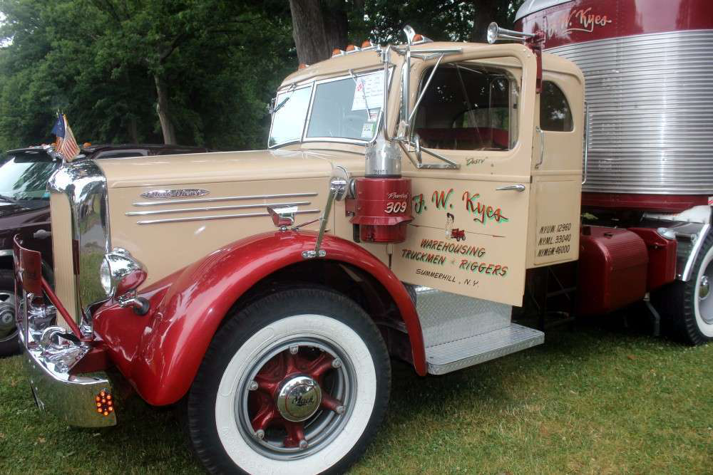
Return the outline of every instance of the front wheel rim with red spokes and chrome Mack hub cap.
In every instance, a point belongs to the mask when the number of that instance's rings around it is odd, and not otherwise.
[[[338,345],[304,337],[262,350],[238,388],[235,419],[243,439],[271,459],[300,459],[344,428],[356,373]]]

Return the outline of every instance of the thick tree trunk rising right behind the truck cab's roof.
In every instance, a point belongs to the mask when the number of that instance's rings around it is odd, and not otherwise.
[[[335,4],[324,8],[319,0],[289,0],[292,37],[299,63],[314,64],[332,56],[332,49],[347,43],[347,11]]]

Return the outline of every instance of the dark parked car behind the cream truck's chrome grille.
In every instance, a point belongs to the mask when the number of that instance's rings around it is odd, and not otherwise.
[[[76,160],[177,155],[210,152],[201,147],[180,145],[91,145],[81,149]],[[15,280],[12,240],[16,234],[42,252],[43,275],[52,281],[52,231],[50,228],[47,181],[61,166],[52,147],[10,150],[0,166],[0,356],[18,349],[15,327]]]

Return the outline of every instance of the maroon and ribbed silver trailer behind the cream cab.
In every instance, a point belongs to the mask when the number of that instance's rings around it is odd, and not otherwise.
[[[527,0],[516,19],[521,31],[544,31],[545,51],[573,61],[585,75],[583,205],[642,208],[647,202],[652,209],[657,197],[661,209],[685,200],[683,207],[707,204],[713,195],[712,1]]]

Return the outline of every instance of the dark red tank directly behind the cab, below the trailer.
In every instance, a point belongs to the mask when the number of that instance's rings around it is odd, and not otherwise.
[[[640,301],[649,257],[643,239],[626,229],[582,226],[579,313],[599,315]]]

